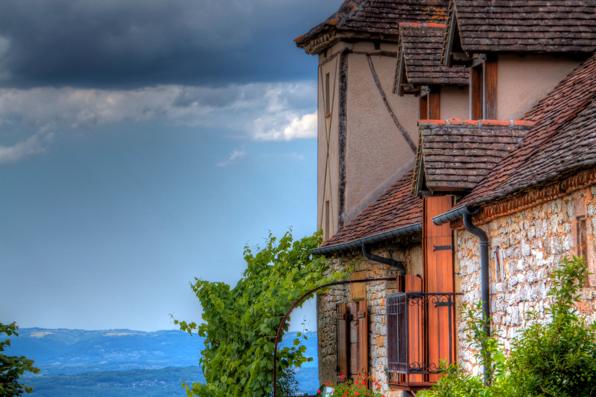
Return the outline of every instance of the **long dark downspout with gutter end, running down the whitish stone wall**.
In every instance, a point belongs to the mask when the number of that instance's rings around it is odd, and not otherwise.
[[[472,215],[479,209],[471,209],[467,206],[455,208],[445,214],[433,218],[433,223],[437,226],[462,218],[465,230],[478,237],[480,243],[480,295],[482,298],[482,319],[485,321],[484,330],[486,335],[491,336],[491,324],[488,319],[491,317],[491,290],[489,285],[489,240],[485,231],[472,223]],[[483,368],[485,384],[490,382],[488,371]]]

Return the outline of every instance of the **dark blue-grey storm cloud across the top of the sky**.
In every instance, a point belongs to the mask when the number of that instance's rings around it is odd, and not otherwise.
[[[292,42],[340,0],[7,0],[0,85],[137,87],[313,79]]]

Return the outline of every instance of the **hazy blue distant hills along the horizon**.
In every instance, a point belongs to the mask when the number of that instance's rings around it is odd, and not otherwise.
[[[281,345],[292,346],[296,334],[288,332]],[[306,355],[315,360],[296,368],[296,379],[313,394],[319,386],[316,332],[306,336]],[[180,378],[204,382],[198,367],[204,339],[179,330],[21,328],[10,339],[5,353],[41,368],[40,376],[23,380],[37,397],[182,397]]]

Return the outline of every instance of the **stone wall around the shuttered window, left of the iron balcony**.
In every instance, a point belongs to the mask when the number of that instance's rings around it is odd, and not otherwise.
[[[420,239],[404,244],[390,243],[383,247],[372,249],[373,254],[406,262],[408,274],[422,274],[423,252]],[[398,276],[398,271],[388,265],[378,264],[364,258],[362,254],[333,260],[330,271],[346,265],[355,266],[355,273],[364,271],[363,278],[386,278]],[[317,330],[319,352],[319,382],[328,380],[337,382],[337,304],[352,302],[354,285],[335,286],[317,295]],[[383,393],[387,397],[401,396],[401,391],[389,390],[387,387],[384,367],[387,366],[387,318],[385,313],[385,297],[398,292],[396,282],[371,282],[366,284],[366,299],[368,301],[368,370],[383,386]]]

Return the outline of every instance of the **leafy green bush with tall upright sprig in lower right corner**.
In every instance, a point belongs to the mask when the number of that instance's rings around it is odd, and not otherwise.
[[[551,279],[548,324],[529,312],[531,326],[513,343],[510,380],[517,396],[596,395],[596,324],[578,315],[579,286],[588,277],[582,258],[564,258]]]

